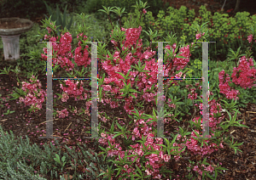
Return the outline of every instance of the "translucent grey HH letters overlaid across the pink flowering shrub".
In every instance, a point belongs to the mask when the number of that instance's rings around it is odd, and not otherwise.
[[[84,138],[102,138],[98,137],[98,109],[97,109],[97,42],[89,42],[92,45],[92,58],[91,58],[91,77],[95,78],[52,78],[52,43],[47,42],[47,101],[46,101],[46,137],[39,138],[60,138],[53,137],[53,90],[52,90],[52,80],[58,79],[75,79],[75,80],[91,80],[91,137]],[[163,80],[203,80],[202,82],[202,124],[203,124],[203,136],[205,138],[209,135],[209,82],[208,82],[208,70],[209,70],[209,60],[208,60],[208,42],[202,42],[202,78],[163,78],[163,42],[158,43],[158,95],[157,95],[157,138],[172,138],[164,137],[164,102],[163,102]],[[93,100],[95,99],[95,100]]]

